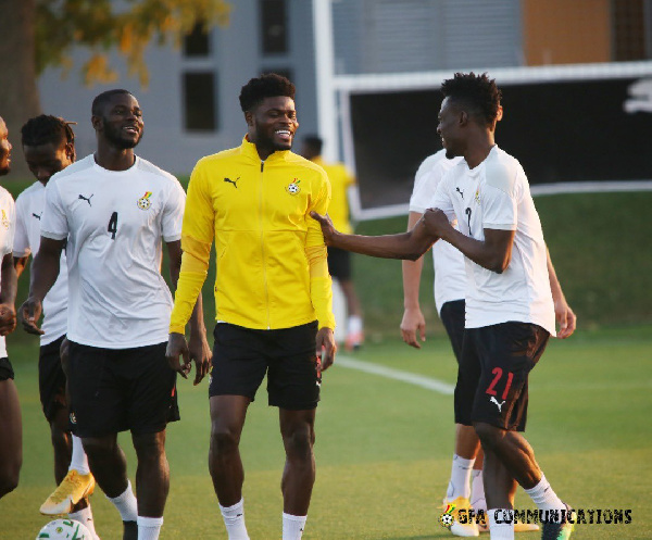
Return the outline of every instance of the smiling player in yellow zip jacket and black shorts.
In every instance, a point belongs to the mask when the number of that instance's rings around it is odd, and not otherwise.
[[[290,151],[299,123],[288,79],[251,79],[240,105],[248,127],[242,145],[201,159],[190,177],[167,357],[187,375],[184,328],[215,242],[217,324],[209,389],[215,493],[228,538],[248,539],[239,441],[266,373],[286,450],[283,539],[294,540],[303,532],[315,479],[321,372],[336,352],[326,246],[310,217],[327,211],[330,185],[322,167]]]

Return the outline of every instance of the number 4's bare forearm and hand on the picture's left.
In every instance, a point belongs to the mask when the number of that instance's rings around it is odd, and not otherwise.
[[[37,323],[42,312],[42,301],[59,277],[59,263],[65,239],[54,240],[41,236],[38,253],[32,263],[29,296],[18,311],[23,329],[28,334],[42,335]]]

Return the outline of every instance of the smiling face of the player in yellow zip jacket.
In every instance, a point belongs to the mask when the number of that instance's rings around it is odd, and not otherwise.
[[[290,150],[299,127],[294,100],[285,96],[265,98],[253,111],[244,113],[249,140],[264,159],[277,150]],[[264,155],[264,158],[263,158]]]

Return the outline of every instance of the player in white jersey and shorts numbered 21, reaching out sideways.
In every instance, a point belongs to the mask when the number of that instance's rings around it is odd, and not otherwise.
[[[381,237],[341,235],[327,217],[314,217],[328,244],[350,251],[416,260],[442,239],[465,255],[466,324],[455,422],[473,425],[480,438],[491,538],[514,538],[517,481],[541,511],[542,538],[567,539],[572,512],[519,434],[526,423],[528,374],[555,334],[539,215],[523,167],[494,142],[500,111],[496,81],[486,74],[457,73],[441,90],[437,131],[448,154],[464,160],[439,184],[434,210],[409,233]],[[460,230],[451,225],[455,216]]]

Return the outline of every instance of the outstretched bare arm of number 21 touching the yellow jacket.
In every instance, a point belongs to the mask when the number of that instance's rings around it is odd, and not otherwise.
[[[422,226],[422,222],[412,230],[399,235],[361,236],[343,235],[337,231],[328,215],[321,215],[316,212],[311,212],[310,215],[322,226],[326,246],[353,251],[363,255],[416,261],[437,240],[436,237],[430,236],[426,228]]]

